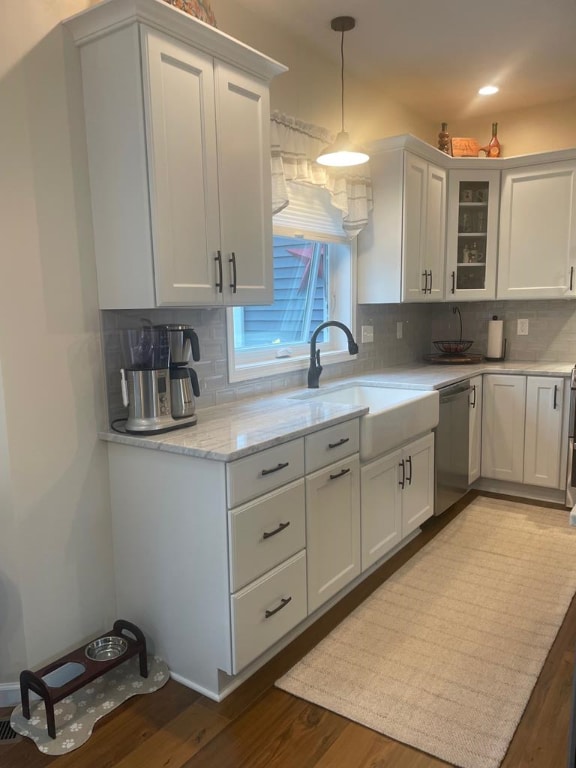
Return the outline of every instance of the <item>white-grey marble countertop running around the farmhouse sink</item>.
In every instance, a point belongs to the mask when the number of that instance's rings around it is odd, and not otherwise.
[[[473,365],[394,366],[371,374],[327,379],[320,387],[329,389],[352,382],[405,389],[441,389],[482,373],[516,373],[538,376],[569,376],[574,363],[532,363],[528,361],[478,363]],[[326,403],[314,399],[305,387],[266,397],[241,400],[199,410],[193,427],[138,437],[112,430],[99,434],[102,440],[141,448],[181,453],[215,461],[234,461],[265,448],[301,437],[324,427],[347,421],[367,412],[363,406]],[[294,399],[301,396],[302,399]]]

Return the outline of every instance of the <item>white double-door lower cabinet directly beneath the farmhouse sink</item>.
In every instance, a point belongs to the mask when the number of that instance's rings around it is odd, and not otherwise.
[[[432,433],[363,466],[362,570],[380,560],[433,512]]]

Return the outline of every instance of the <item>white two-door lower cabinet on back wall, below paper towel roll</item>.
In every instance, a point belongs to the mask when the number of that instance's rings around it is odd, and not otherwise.
[[[561,488],[563,379],[484,376],[482,476]]]

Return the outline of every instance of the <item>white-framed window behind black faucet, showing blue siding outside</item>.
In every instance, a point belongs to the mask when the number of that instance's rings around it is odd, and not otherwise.
[[[331,218],[318,218],[318,200],[320,207],[326,206],[319,193],[325,192],[304,188],[302,210],[291,202],[289,217],[284,212],[274,217],[274,303],[228,310],[230,381],[307,368],[310,337],[326,320],[340,320],[354,333],[355,241],[330,232],[336,229],[333,219],[342,230],[340,215],[329,204]],[[314,217],[314,207],[311,211],[306,203],[312,195],[317,203]],[[311,231],[310,226],[319,223],[323,231]],[[300,225],[297,235],[295,224]],[[323,364],[350,359],[346,337],[337,328],[322,332],[318,348]]]

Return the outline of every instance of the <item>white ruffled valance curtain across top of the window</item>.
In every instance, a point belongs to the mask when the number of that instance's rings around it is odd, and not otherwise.
[[[295,117],[273,112],[272,145],[272,212],[278,213],[290,204],[288,182],[324,187],[332,205],[342,214],[342,229],[353,238],[368,223],[372,210],[370,164],[352,168],[327,168],[316,162],[320,151],[333,141],[324,128],[303,123]]]

